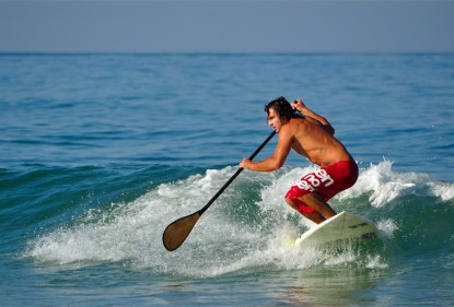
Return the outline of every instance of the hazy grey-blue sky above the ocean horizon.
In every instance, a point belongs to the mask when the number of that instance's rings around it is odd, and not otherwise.
[[[454,0],[0,0],[0,52],[453,52]]]

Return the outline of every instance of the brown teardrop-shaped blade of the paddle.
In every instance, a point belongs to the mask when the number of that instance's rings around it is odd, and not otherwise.
[[[200,215],[200,212],[196,212],[170,224],[162,235],[164,247],[168,251],[177,249],[193,231]]]

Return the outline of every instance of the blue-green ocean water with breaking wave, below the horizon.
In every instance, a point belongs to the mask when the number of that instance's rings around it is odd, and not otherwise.
[[[264,105],[303,98],[360,166],[331,206],[381,239],[284,243],[314,169],[244,170]],[[2,306],[454,305],[453,54],[1,54]],[[277,137],[258,154],[272,154]]]

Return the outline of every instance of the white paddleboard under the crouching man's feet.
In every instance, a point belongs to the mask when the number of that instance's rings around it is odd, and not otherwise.
[[[365,217],[342,211],[305,232],[294,243],[305,248],[352,239],[379,238],[379,229]]]

